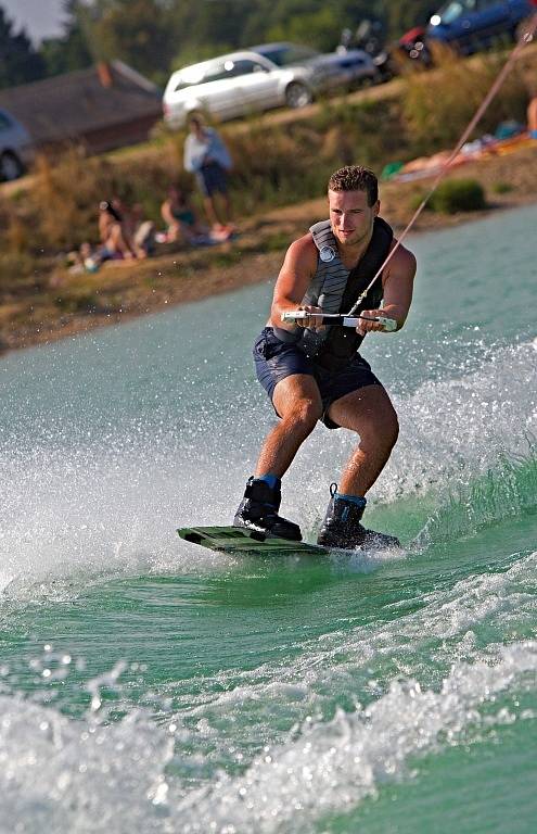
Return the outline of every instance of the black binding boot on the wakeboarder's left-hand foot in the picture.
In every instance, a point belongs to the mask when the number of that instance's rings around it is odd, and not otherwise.
[[[270,477],[270,476],[269,476]],[[261,478],[248,478],[244,497],[239,505],[233,527],[245,527],[272,539],[302,541],[301,528],[278,515],[281,504],[281,484],[273,478],[270,485]]]

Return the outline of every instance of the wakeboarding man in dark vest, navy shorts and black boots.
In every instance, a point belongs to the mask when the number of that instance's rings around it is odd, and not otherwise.
[[[415,258],[379,216],[373,172],[359,165],[340,168],[330,177],[328,202],[330,218],[311,226],[289,248],[269,321],[254,344],[257,377],[280,421],[264,441],[233,526],[302,540],[298,525],[278,515],[281,478],[321,420],[329,429],[355,431],[359,442],[340,485],[330,489],[318,544],[396,546],[395,536],[361,525],[366,495],[391,455],[398,422],[389,396],[359,348],[368,332],[404,326]],[[293,319],[297,308],[302,313]],[[323,324],[321,314],[349,309],[359,317],[356,328]]]

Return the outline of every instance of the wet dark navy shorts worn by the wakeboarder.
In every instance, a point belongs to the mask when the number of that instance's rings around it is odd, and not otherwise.
[[[307,374],[316,380],[322,401],[321,421],[329,429],[340,428],[328,417],[332,403],[345,394],[366,386],[381,386],[371,367],[359,353],[338,370],[321,368],[294,342],[282,342],[271,327],[266,327],[256,339],[253,349],[257,379],[272,402],[278,382],[293,374]]]

